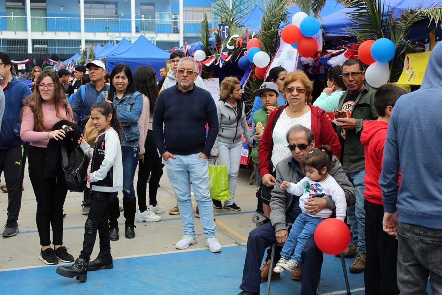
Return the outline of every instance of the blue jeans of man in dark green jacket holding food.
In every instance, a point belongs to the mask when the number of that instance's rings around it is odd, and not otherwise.
[[[356,204],[347,207],[347,220],[352,226],[352,244],[358,244],[357,251],[367,253],[365,246],[364,178],[365,170],[347,173],[356,190]]]

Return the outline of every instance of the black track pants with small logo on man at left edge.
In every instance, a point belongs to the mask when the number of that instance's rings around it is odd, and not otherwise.
[[[8,219],[18,219],[22,204],[25,163],[25,145],[9,149],[0,149],[0,171],[4,172],[6,187],[8,188]]]

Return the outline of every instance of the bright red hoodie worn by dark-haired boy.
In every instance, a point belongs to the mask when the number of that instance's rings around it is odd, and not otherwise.
[[[362,123],[360,142],[365,146],[365,191],[367,201],[384,204],[381,197],[379,177],[384,159],[384,145],[387,137],[388,123],[383,121],[364,121]],[[400,183],[400,178],[399,178]]]

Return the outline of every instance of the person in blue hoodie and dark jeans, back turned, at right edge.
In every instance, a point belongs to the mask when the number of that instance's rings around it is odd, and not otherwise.
[[[433,294],[442,290],[441,91],[442,42],[431,52],[420,89],[396,102],[384,147],[383,228],[398,239],[401,295],[426,294],[428,277]]]

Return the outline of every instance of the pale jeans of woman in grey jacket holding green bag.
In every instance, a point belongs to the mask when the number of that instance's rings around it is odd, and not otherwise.
[[[218,141],[218,157],[221,165],[227,166],[227,174],[229,175],[230,200],[224,202],[224,204],[228,206],[234,202],[242,146],[242,141],[236,143]]]

